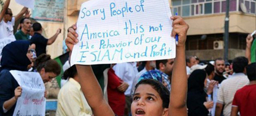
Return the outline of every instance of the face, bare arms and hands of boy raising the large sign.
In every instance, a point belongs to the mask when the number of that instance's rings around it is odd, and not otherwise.
[[[189,26],[180,16],[173,16],[171,17],[171,20],[174,20],[172,24],[173,30],[171,32],[171,36],[178,35],[179,43],[176,46],[176,58],[174,61],[173,75],[171,78],[172,89],[170,95],[170,104],[168,105],[168,101],[163,99],[166,97],[168,98],[168,96],[157,91],[161,87],[164,88],[163,84],[157,84],[159,86],[156,87],[151,86],[152,84],[142,84],[141,81],[141,84],[137,84],[135,96],[133,96],[131,108],[133,116],[139,114],[143,114],[145,116],[188,115],[186,109],[188,79],[186,76],[185,43]],[[65,42],[70,51],[72,51],[73,46],[78,42],[78,35],[74,31],[76,29],[77,27],[75,25],[68,29],[68,37]],[[88,101],[88,104],[90,105],[90,108],[92,108],[93,114],[98,116],[114,116],[114,112],[104,100],[101,88],[90,65],[76,65],[76,67],[83,93]],[[149,83],[154,83],[153,81]]]

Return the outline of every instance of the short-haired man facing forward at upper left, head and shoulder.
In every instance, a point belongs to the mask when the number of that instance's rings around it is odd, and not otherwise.
[[[15,33],[16,40],[29,40],[29,33],[31,28],[31,21],[29,18],[22,18],[20,20],[21,29]]]

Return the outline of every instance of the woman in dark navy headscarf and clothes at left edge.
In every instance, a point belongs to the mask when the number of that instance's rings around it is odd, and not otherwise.
[[[6,45],[2,49],[1,72],[0,72],[0,116],[13,115],[15,102],[21,95],[21,88],[18,87],[10,70],[27,71],[27,66],[33,60],[33,49],[30,42],[17,40]],[[14,93],[14,90],[16,91]]]

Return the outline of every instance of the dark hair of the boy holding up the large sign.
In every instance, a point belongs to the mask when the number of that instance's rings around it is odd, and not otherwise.
[[[163,108],[169,107],[170,92],[162,83],[160,83],[159,81],[154,80],[154,79],[143,79],[143,80],[139,81],[139,83],[136,84],[135,91],[140,84],[151,85],[159,93],[159,95],[163,101]]]

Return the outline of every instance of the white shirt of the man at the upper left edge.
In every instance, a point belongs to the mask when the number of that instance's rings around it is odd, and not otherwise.
[[[15,18],[11,18],[11,21],[8,21],[5,23],[4,20],[0,23],[0,39],[4,39],[6,37],[14,37],[13,34],[13,26],[15,24]],[[15,38],[15,37],[14,37]]]

